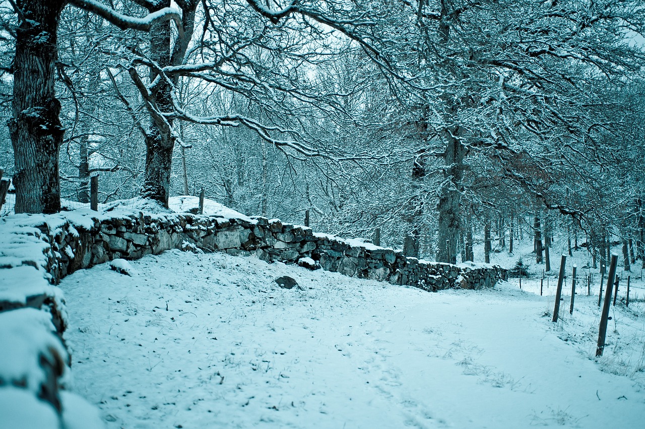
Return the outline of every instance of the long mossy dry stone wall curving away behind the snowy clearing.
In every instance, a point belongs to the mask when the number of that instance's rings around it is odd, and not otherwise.
[[[43,227],[43,233],[46,232]],[[139,259],[179,248],[202,252],[256,254],[266,261],[389,281],[429,291],[491,287],[506,272],[484,264],[452,265],[419,261],[401,250],[359,240],[314,234],[311,228],[278,219],[224,219],[190,214],[139,215],[94,219],[92,228],[72,224],[50,237],[48,271],[57,283],[65,275],[112,259]]]

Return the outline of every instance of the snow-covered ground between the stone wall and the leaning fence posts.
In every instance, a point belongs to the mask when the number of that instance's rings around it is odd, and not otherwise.
[[[177,251],[61,284],[75,388],[109,428],[641,428],[645,391],[547,297],[437,294]],[[303,290],[278,288],[295,277]],[[166,310],[167,308],[167,310]],[[560,335],[562,336],[562,335]]]

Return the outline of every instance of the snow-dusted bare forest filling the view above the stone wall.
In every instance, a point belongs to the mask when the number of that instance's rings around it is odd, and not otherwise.
[[[643,259],[640,1],[4,1],[15,212],[207,197],[470,260],[566,231]],[[535,225],[533,225],[535,217]],[[527,219],[530,219],[527,221]],[[540,223],[541,221],[541,223]],[[511,234],[512,235],[512,234]],[[540,238],[542,240],[542,238]]]

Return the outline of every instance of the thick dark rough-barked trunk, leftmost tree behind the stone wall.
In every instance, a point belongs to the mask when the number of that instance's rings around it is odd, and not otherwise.
[[[54,92],[57,28],[66,1],[18,0],[14,97],[8,121],[15,159],[15,212],[61,209],[58,155],[64,129]]]

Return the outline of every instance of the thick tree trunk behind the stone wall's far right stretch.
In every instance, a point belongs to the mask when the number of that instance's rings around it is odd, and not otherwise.
[[[464,174],[466,148],[459,139],[459,128],[446,132],[444,185],[439,196],[437,230],[437,262],[457,263],[457,243],[461,229],[461,181]]]

